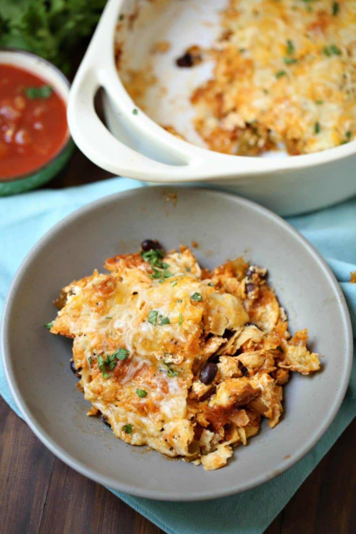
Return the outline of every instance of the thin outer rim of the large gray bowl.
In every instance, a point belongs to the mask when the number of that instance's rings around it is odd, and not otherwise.
[[[166,194],[169,191],[177,191],[177,189],[181,188],[181,186],[173,186],[173,187],[165,187],[165,186],[153,186],[156,190],[164,191]],[[349,385],[350,380],[350,374],[351,374],[351,367],[352,367],[352,359],[353,359],[353,334],[352,334],[352,326],[351,326],[351,318],[349,314],[349,310],[347,308],[346,300],[344,297],[344,294],[342,292],[341,287],[339,286],[334,273],[331,271],[325,260],[321,257],[321,255],[317,252],[317,250],[308,242],[302,234],[300,234],[294,227],[292,227],[287,221],[284,221],[279,215],[274,214],[272,211],[268,210],[267,208],[264,208],[263,206],[258,205],[256,202],[252,202],[250,200],[244,199],[242,197],[239,197],[238,195],[233,195],[225,192],[220,191],[212,191],[209,189],[204,189],[202,187],[189,187],[189,190],[193,190],[196,192],[204,192],[204,194],[208,195],[219,195],[220,197],[227,198],[227,199],[235,199],[238,203],[245,203],[248,207],[252,208],[252,210],[257,210],[259,214],[267,217],[272,222],[277,223],[280,227],[283,228],[283,230],[286,230],[289,235],[291,235],[293,238],[297,239],[302,246],[304,246],[308,253],[311,254],[313,257],[313,260],[318,264],[319,268],[323,271],[323,273],[326,275],[330,287],[333,289],[334,293],[336,294],[336,302],[339,308],[339,312],[341,313],[343,324],[344,324],[344,335],[345,335],[345,359],[346,359],[346,365],[343,367],[343,375],[342,375],[342,381],[341,381],[341,387],[337,389],[337,392],[335,394],[333,403],[330,406],[328,416],[323,420],[322,424],[315,430],[315,432],[308,436],[308,439],[306,439],[305,444],[303,447],[300,447],[300,450],[291,458],[286,459],[283,461],[283,465],[276,466],[275,472],[271,476],[271,474],[260,474],[258,476],[255,476],[252,480],[249,480],[248,482],[244,484],[236,484],[235,486],[229,486],[227,489],[214,491],[213,489],[208,489],[203,494],[195,492],[187,498],[187,494],[178,494],[175,496],[169,496],[167,498],[167,493],[163,491],[149,491],[146,489],[137,489],[132,488],[130,484],[121,483],[120,481],[114,480],[107,476],[102,476],[94,467],[86,467],[82,462],[76,460],[71,454],[67,453],[61,446],[58,446],[54,439],[51,438],[51,436],[42,429],[42,426],[37,423],[35,420],[33,420],[33,417],[31,415],[31,411],[23,399],[21,395],[21,391],[18,388],[17,381],[15,378],[15,374],[11,367],[11,360],[12,357],[10,355],[10,349],[9,349],[9,332],[10,332],[10,321],[7,321],[6,318],[11,312],[12,308],[12,302],[14,299],[14,296],[17,292],[17,285],[18,281],[22,278],[23,273],[27,269],[27,265],[30,264],[33,259],[37,256],[38,253],[41,253],[41,249],[48,244],[48,242],[51,241],[53,235],[56,235],[60,233],[62,230],[66,228],[68,224],[72,224],[73,222],[80,219],[82,216],[85,216],[86,214],[90,213],[91,210],[96,209],[101,206],[105,206],[108,202],[117,202],[123,199],[134,197],[137,194],[137,191],[143,188],[135,188],[128,191],[118,192],[110,195],[106,195],[105,197],[102,197],[100,199],[94,200],[81,208],[73,211],[71,214],[67,215],[61,221],[59,221],[56,225],[54,225],[49,231],[47,231],[42,238],[40,238],[36,244],[31,248],[29,253],[26,255],[25,259],[20,264],[17,272],[15,273],[9,290],[7,291],[7,295],[5,298],[2,318],[1,318],[1,324],[0,324],[0,351],[1,351],[1,357],[2,357],[2,363],[4,367],[4,373],[6,377],[7,384],[9,385],[11,395],[13,396],[15,400],[15,404],[17,405],[19,411],[22,414],[23,419],[27,422],[28,426],[31,428],[31,430],[34,432],[34,434],[39,438],[39,440],[46,446],[48,449],[58,458],[60,458],[62,461],[65,462],[65,464],[69,465],[73,469],[75,469],[77,472],[81,473],[82,475],[90,478],[91,480],[94,480],[95,482],[98,482],[102,485],[107,486],[108,488],[122,491],[124,493],[128,493],[130,495],[136,496],[136,497],[144,497],[148,499],[157,499],[157,500],[169,500],[169,501],[195,501],[195,500],[209,500],[209,499],[216,499],[219,497],[226,497],[232,494],[240,493],[242,491],[247,491],[249,489],[255,488],[256,486],[263,484],[264,482],[267,482],[271,480],[272,477],[279,475],[283,473],[285,470],[290,468],[292,465],[296,464],[298,460],[303,458],[307,452],[309,452],[312,447],[319,441],[319,439],[325,434],[326,430],[330,426],[331,422],[334,420],[339,407],[341,406],[341,403],[344,399],[345,392],[347,389],[347,386]],[[150,188],[151,189],[151,188]],[[183,187],[182,187],[183,189]],[[185,188],[186,189],[186,188]]]

